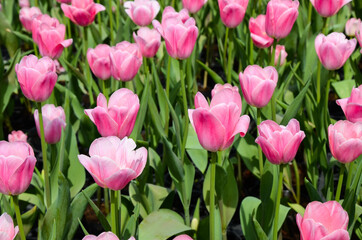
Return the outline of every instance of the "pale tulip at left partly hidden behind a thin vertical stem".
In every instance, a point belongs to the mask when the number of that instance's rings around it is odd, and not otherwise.
[[[42,107],[44,135],[48,144],[56,144],[60,141],[62,130],[67,125],[65,123],[65,113],[62,107],[55,107],[53,104],[46,104]],[[39,113],[34,112],[34,120],[38,136],[40,137]]]

